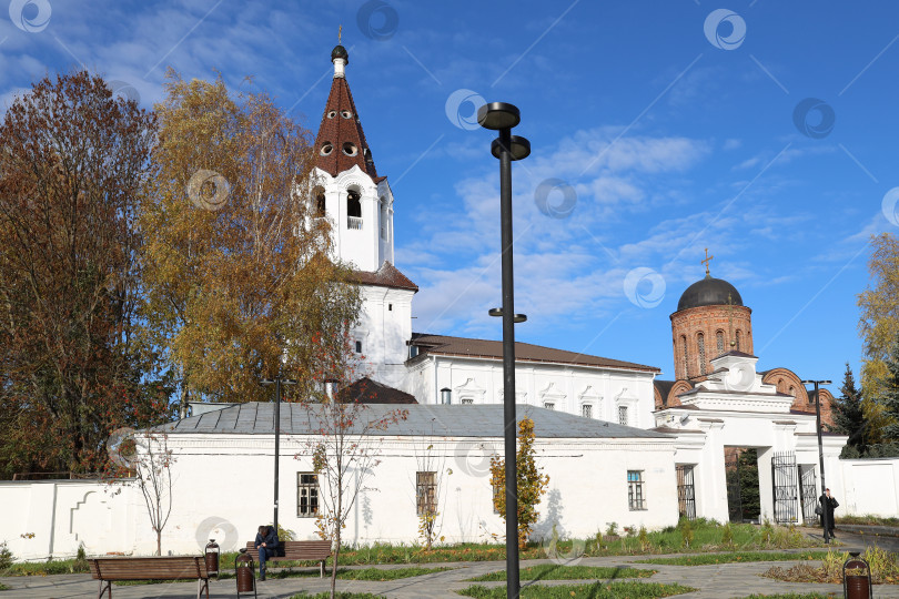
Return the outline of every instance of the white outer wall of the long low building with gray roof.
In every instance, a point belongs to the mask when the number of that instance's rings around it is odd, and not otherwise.
[[[437,478],[438,536],[445,537],[445,542],[502,537],[504,525],[499,515],[493,512],[488,471],[489,455],[502,450],[502,439],[372,440],[380,448],[381,463],[358,498],[344,532],[345,542],[420,541],[415,473],[426,469],[442,473]],[[272,436],[172,435],[169,446],[176,455],[174,509],[163,531],[163,552],[196,552],[209,538],[215,538],[222,550],[234,550],[252,540],[260,525],[271,522]],[[423,463],[428,446],[433,456],[431,467]],[[560,535],[579,538],[593,536],[613,521],[619,527],[650,529],[676,524],[673,440],[538,439],[535,448],[538,465],[550,477],[548,493],[539,506],[541,522],[535,536],[550,536],[553,524]],[[643,473],[646,510],[628,509],[628,469]],[[297,539],[317,538],[315,519],[296,514],[297,473],[311,470],[306,439],[282,436],[279,522],[293,530]],[[155,549],[155,537],[149,524],[140,524],[144,520],[139,519],[130,547],[137,554],[149,555]]]

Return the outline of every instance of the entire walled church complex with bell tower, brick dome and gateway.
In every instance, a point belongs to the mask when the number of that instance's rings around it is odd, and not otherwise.
[[[503,532],[488,476],[489,457],[503,446],[502,343],[413,331],[418,288],[395,265],[394,196],[375,169],[350,92],[349,54],[339,45],[331,58],[312,199],[317,217],[331,221],[336,257],[354,266],[362,287],[355,351],[378,388],[407,397],[404,405],[366,406],[374,416],[406,415],[360,440],[376,448],[380,465],[346,541],[420,540],[422,493],[438,497],[446,542],[489,540]],[[681,516],[735,519],[741,490],[735,497],[728,468],[747,450],[757,456],[759,499],[748,519],[814,519],[816,398],[785,368],[756,370],[750,312],[733,285],[707,271],[671,315],[671,382],[659,380],[654,366],[516,344],[518,416],[534,420],[537,463],[549,475],[535,538],[554,527],[586,538],[610,522],[653,529]],[[314,420],[314,407],[282,406],[280,524],[301,539],[314,536],[313,498],[326,493],[311,461]],[[163,429],[175,458],[163,549],[196,552],[216,538],[228,550],[252,540],[272,515],[273,405],[196,406]],[[845,443],[824,437],[839,514],[895,515],[899,460],[839,460]],[[432,479],[431,490],[420,488]],[[133,480],[0,481],[0,501],[8,507],[0,511],[0,541],[20,559],[71,556],[79,544],[89,554],[155,549]]]

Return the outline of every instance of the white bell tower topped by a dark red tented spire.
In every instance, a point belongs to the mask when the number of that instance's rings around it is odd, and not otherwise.
[[[393,265],[393,193],[378,176],[372,150],[346,83],[350,55],[331,52],[334,80],[315,139],[312,199],[332,224],[335,257],[351,264],[362,288],[354,351],[371,378],[402,387],[406,342],[412,338],[412,297],[418,287]]]

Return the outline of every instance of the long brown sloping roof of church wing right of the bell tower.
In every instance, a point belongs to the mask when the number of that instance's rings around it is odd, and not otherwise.
[[[469,339],[466,337],[447,337],[445,335],[428,335],[413,333],[410,345],[420,347],[423,354],[438,354],[444,356],[465,356],[489,359],[503,358],[503,342],[486,339]],[[415,359],[415,358],[413,358]],[[626,370],[642,370],[646,373],[660,373],[655,366],[645,366],[620,359],[589,356],[565,349],[555,349],[529,343],[515,343],[515,362],[548,362],[557,364],[575,364],[578,366],[602,366],[606,368],[623,368]]]

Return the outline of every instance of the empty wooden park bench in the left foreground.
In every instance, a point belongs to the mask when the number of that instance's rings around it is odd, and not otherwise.
[[[209,599],[209,572],[202,556],[88,558],[91,577],[100,581],[97,599],[109,592],[117,580],[196,580],[196,599],[203,591]]]

